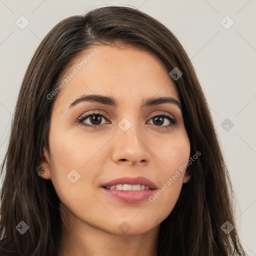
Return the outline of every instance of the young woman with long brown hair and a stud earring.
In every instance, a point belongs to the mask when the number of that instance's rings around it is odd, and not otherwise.
[[[20,88],[0,255],[244,255],[210,112],[177,38],[120,6],[59,22]]]

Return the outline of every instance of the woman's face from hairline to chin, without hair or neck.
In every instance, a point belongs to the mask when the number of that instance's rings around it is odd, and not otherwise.
[[[42,177],[81,225],[115,234],[157,227],[189,179],[176,174],[190,145],[168,70],[147,51],[104,45],[74,58],[62,81],[49,95]]]

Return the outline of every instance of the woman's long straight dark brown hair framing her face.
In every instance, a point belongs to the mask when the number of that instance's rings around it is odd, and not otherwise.
[[[195,71],[178,39],[159,21],[129,7],[108,6],[85,15],[68,17],[42,40],[26,70],[19,91],[11,135],[1,167],[1,255],[57,255],[61,234],[59,199],[50,180],[35,169],[48,148],[52,104],[48,99],[66,64],[94,45],[125,44],[150,50],[170,71],[182,105],[190,155],[200,157],[188,167],[190,180],[160,224],[157,256],[245,255],[235,228],[226,234],[221,225],[233,226],[232,190],[210,112]],[[135,93],[135,92],[134,92]],[[16,225],[24,221],[24,234]]]

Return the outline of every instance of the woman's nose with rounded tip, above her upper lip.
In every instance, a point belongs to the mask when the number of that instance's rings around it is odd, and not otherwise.
[[[145,133],[143,133],[141,127],[132,124],[126,131],[118,127],[114,139],[113,161],[128,165],[148,164],[151,150],[146,145]]]

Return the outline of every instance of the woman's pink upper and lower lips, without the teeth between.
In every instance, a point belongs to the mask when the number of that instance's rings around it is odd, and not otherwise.
[[[106,189],[106,186],[111,185],[117,185],[117,184],[141,184],[141,185],[147,185],[149,188],[148,190],[134,190],[134,191],[125,191],[125,190],[116,190],[116,189]],[[101,188],[103,191],[115,199],[122,201],[122,202],[128,202],[128,203],[135,203],[135,202],[141,202],[146,200],[148,197],[153,195],[155,193],[155,189],[157,188],[156,185],[149,179],[145,177],[120,177],[113,179],[109,182],[103,183],[101,185]]]

